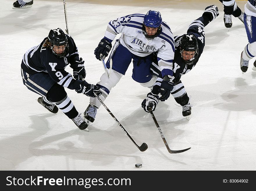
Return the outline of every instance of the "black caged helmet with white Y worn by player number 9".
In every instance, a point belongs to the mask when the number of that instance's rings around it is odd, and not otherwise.
[[[53,54],[55,54],[57,57],[62,58],[67,55],[68,53],[68,42],[67,42],[67,36],[61,30],[60,28],[50,30],[48,34],[48,40],[51,43],[51,50]],[[55,47],[54,47],[55,45]],[[65,50],[62,53],[58,53],[59,51],[56,51],[59,46],[65,46]],[[56,47],[57,46],[57,47]]]

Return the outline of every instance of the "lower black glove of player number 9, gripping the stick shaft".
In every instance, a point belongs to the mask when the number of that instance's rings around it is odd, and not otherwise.
[[[93,84],[88,84],[86,81],[83,81],[82,84],[75,91],[77,93],[83,93],[92,98],[95,98],[94,93],[96,93],[98,96],[102,94],[98,86],[95,86]]]

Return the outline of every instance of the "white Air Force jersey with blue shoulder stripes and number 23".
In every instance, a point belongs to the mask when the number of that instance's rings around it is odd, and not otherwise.
[[[142,32],[144,16],[144,14],[133,14],[111,20],[107,26],[105,37],[114,40],[118,33],[122,33],[120,43],[131,53],[144,57],[158,51],[158,63],[161,71],[163,69],[172,70],[174,37],[170,27],[162,22],[162,31],[159,36],[153,40],[147,40]],[[170,71],[164,73],[172,75]]]

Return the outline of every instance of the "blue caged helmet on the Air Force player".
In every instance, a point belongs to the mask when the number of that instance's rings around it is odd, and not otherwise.
[[[157,37],[161,32],[162,17],[159,11],[149,10],[144,17],[142,31],[148,40]],[[146,27],[150,28],[146,31]],[[154,28],[154,30],[152,30]],[[157,29],[157,30],[156,30]]]

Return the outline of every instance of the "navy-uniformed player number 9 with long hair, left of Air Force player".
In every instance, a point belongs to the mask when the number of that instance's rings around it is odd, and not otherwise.
[[[74,78],[65,71],[69,64]],[[79,58],[71,36],[59,28],[50,30],[48,37],[24,54],[21,73],[24,85],[42,96],[38,98],[42,106],[52,113],[57,113],[60,109],[79,129],[87,128],[88,121],[83,120],[77,112],[64,87],[90,97],[95,97],[93,92],[97,95],[101,92],[99,87],[84,81],[84,61]]]

